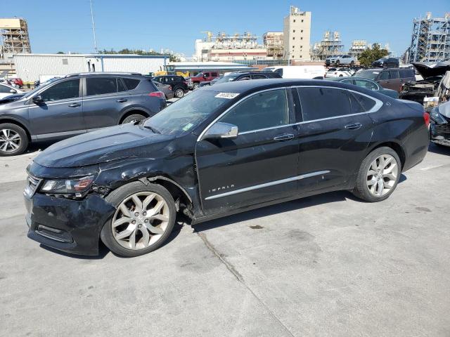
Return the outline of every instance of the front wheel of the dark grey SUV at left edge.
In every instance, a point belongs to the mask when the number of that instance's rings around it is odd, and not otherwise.
[[[28,135],[18,125],[0,124],[0,157],[23,154],[28,147]]]

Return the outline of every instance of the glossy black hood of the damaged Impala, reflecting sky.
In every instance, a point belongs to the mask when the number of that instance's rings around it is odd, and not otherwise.
[[[148,128],[124,124],[68,138],[51,145],[34,159],[41,166],[63,168],[143,157],[164,147],[174,136],[154,133]]]

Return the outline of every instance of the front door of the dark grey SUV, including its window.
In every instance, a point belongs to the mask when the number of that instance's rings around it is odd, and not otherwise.
[[[65,138],[86,132],[80,79],[58,81],[37,93],[41,103],[28,102],[32,133],[38,140]],[[34,96],[36,97],[36,96]]]

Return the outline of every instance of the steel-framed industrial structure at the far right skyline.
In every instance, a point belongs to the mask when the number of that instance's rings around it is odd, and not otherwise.
[[[409,47],[409,62],[437,62],[450,58],[450,13],[444,18],[413,20],[413,34]]]

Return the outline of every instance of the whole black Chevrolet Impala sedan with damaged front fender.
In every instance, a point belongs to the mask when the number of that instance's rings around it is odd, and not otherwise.
[[[201,88],[150,119],[39,154],[27,168],[28,237],[139,256],[165,242],[177,213],[195,225],[335,190],[381,201],[425,157],[428,122],[418,103],[339,82]]]

